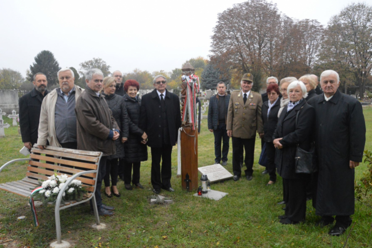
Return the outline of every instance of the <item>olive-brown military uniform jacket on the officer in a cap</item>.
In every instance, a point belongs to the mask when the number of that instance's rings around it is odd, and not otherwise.
[[[254,138],[256,131],[263,133],[262,98],[257,92],[250,91],[244,104],[242,91],[231,94],[227,111],[227,130],[233,131],[233,137]]]

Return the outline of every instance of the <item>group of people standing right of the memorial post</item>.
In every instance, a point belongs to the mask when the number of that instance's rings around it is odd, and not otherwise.
[[[267,159],[262,174],[267,186],[283,178],[285,214],[282,224],[305,221],[306,201],[312,198],[320,226],[335,225],[329,235],[339,236],[351,225],[354,214],[354,168],[362,162],[366,125],[361,103],[338,90],[336,71],[304,75],[299,79],[268,77],[266,93],[251,91],[253,76],[243,75],[241,90],[226,94],[224,82],[217,84],[208,109],[208,129],[215,137],[215,163],[227,164],[229,137],[233,145],[234,181],[241,178],[244,162],[246,179],[252,180],[256,132],[261,138],[261,156]],[[222,156],[221,141],[223,140]],[[311,174],[296,173],[296,150],[315,149],[317,167]],[[335,218],[333,217],[335,216]]]

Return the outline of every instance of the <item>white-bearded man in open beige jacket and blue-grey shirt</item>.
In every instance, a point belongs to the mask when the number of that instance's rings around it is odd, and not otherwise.
[[[44,149],[47,141],[52,146],[77,149],[75,103],[84,91],[75,85],[70,68],[57,72],[60,88],[48,94],[41,106],[38,147]]]

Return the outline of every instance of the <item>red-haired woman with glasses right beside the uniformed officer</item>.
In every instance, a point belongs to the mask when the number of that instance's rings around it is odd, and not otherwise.
[[[275,167],[275,147],[273,144],[273,134],[276,124],[278,123],[278,111],[280,109],[279,86],[271,83],[266,89],[268,101],[262,104],[262,121],[263,121],[263,141],[265,142],[267,166],[266,170],[270,176],[270,181],[266,186],[275,184],[276,167]]]

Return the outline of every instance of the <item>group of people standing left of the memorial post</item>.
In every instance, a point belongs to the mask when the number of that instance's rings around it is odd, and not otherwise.
[[[114,214],[114,207],[102,203],[102,181],[109,198],[121,196],[118,178],[127,190],[143,188],[140,164],[147,160],[147,146],[151,147],[153,191],[174,191],[171,154],[181,126],[181,110],[179,97],[166,89],[165,76],[156,76],[155,89],[140,99],[139,83],[132,79],[123,82],[120,71],[104,77],[101,70],[89,69],[85,89],[75,85],[70,68],[62,68],[57,75],[60,87],[48,91],[46,75],[36,73],[35,88],[19,99],[25,147],[51,145],[102,152],[95,191],[99,215]],[[93,214],[92,201],[90,204]]]

